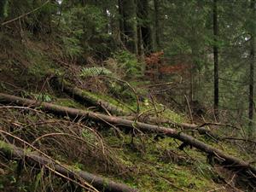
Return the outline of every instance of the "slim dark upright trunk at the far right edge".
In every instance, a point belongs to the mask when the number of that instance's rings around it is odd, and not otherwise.
[[[251,19],[252,21],[255,19],[255,1],[251,0],[251,11],[252,11],[252,16]],[[254,63],[255,63],[255,26],[254,22],[252,26],[252,32],[251,33],[251,61],[250,61],[250,74],[249,74],[249,131],[248,131],[248,137],[253,137],[254,131],[253,131],[253,111],[254,111]]]

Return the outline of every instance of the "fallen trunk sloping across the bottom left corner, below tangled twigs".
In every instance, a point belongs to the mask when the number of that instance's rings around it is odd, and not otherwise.
[[[25,151],[23,148],[17,148],[12,144],[5,143],[0,140],[0,151],[3,152],[9,159],[18,159],[25,160],[26,163],[32,167],[43,167],[48,169],[49,172],[53,173],[58,172],[61,175],[74,179],[76,182],[79,182],[84,179],[87,183],[90,183],[93,187],[101,191],[108,192],[137,192],[137,189],[132,189],[125,184],[115,183],[108,180],[107,178],[99,177],[93,175],[89,172],[83,171],[70,171],[69,169],[56,164],[53,160],[49,160],[41,155],[34,154],[32,152]],[[56,176],[60,176],[56,174]],[[83,182],[82,182],[83,183]]]

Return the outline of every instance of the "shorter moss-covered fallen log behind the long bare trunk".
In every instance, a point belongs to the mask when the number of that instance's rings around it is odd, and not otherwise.
[[[77,102],[81,102],[82,104],[89,104],[92,106],[99,107],[103,110],[108,110],[108,112],[115,114],[115,115],[127,115],[129,114],[122,108],[111,104],[110,102],[103,101],[102,99],[93,96],[89,92],[85,90],[81,90],[78,87],[69,84],[66,80],[60,78],[52,78],[50,80],[51,84],[55,87],[60,88],[63,90],[67,95],[72,96]]]

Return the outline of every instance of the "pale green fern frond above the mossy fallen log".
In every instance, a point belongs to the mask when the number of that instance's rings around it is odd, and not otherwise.
[[[105,67],[84,67],[81,69],[80,77],[96,77],[109,74],[112,74],[112,72]]]

